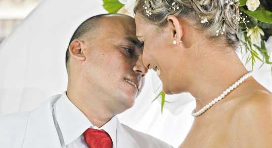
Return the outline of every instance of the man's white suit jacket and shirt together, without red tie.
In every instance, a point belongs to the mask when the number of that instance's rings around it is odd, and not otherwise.
[[[87,148],[82,134],[88,128],[94,126],[63,93],[35,110],[0,116],[0,147]],[[113,148],[173,148],[121,124],[117,116],[100,129],[110,135]]]

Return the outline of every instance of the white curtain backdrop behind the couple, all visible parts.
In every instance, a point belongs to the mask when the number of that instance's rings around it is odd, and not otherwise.
[[[0,44],[0,114],[30,111],[49,96],[66,90],[65,52],[71,36],[87,18],[106,13],[102,0],[43,0]],[[254,76],[272,90],[270,67]],[[195,104],[189,94],[167,96],[163,113],[161,90],[154,72],[132,109],[119,115],[121,122],[178,147],[186,136]]]

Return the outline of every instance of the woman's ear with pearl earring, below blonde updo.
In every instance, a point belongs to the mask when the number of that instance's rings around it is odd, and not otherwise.
[[[169,25],[171,25],[171,28],[172,28],[171,35],[173,37],[173,40],[176,40],[179,45],[179,43],[181,42],[181,37],[183,35],[180,20],[174,15],[169,15],[167,17],[167,21]]]

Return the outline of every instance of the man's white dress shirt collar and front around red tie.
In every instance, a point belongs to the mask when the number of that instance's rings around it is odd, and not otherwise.
[[[88,128],[106,131],[116,148],[117,117],[113,116],[102,127],[93,126],[91,121],[67,97],[66,92],[53,105],[53,118],[62,148],[88,148],[83,133]]]

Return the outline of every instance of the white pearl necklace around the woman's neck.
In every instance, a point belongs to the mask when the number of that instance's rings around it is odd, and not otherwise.
[[[201,110],[196,111],[195,109],[192,111],[192,116],[199,116],[208,109],[210,109],[213,105],[215,105],[217,102],[221,101],[229,92],[231,92],[234,88],[236,88],[238,85],[240,85],[244,80],[246,80],[248,77],[252,75],[252,71],[249,71],[247,74],[242,76],[238,81],[236,81],[233,85],[231,85],[229,88],[227,88],[219,97],[215,98],[213,101],[211,101],[209,104],[207,104],[205,107],[203,107]]]

